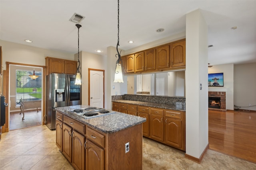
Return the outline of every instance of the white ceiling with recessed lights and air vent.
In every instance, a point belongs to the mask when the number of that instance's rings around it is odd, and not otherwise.
[[[186,14],[197,9],[208,24],[208,45],[214,45],[208,63],[256,62],[255,0],[120,0],[120,48],[186,31]],[[80,51],[107,55],[108,46],[116,47],[117,0],[0,0],[0,39],[75,54],[78,30],[69,21],[74,13],[85,16]]]

